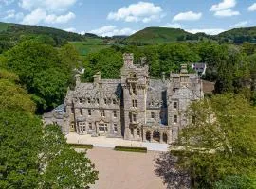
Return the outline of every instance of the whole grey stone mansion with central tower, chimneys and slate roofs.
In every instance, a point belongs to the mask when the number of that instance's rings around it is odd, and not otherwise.
[[[45,114],[46,124],[58,124],[66,134],[174,142],[188,122],[189,104],[204,96],[200,78],[182,64],[179,74],[155,79],[144,59],[134,64],[133,54],[124,54],[123,61],[120,79],[102,79],[99,72],[92,83],[82,83],[76,75],[75,89],[63,106]]]

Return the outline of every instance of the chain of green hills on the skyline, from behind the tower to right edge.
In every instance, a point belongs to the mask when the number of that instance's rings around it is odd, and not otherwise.
[[[205,33],[192,34],[177,28],[147,27],[120,41],[120,43],[145,45],[198,41],[201,39],[215,40],[219,43],[256,43],[256,27],[234,28],[215,36]]]

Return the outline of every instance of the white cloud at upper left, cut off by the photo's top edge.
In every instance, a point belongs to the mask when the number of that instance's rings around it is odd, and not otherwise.
[[[26,10],[45,9],[56,12],[69,9],[77,0],[20,0],[19,6]]]

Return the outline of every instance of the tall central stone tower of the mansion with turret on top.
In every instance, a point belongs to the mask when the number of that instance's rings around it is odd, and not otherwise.
[[[121,69],[123,91],[124,139],[142,140],[142,125],[146,123],[148,65],[134,64],[133,54],[123,55]]]

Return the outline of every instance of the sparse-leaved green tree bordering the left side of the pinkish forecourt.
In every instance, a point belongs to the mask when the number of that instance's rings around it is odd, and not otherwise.
[[[42,188],[85,188],[98,180],[98,171],[84,152],[76,152],[66,144],[61,129],[46,126],[40,157]]]

